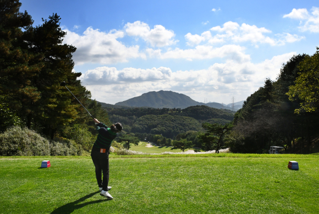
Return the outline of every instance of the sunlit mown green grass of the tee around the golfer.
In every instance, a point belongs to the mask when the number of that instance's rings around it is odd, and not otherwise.
[[[111,201],[90,157],[0,157],[0,213],[318,213],[319,155],[223,155],[112,154]]]

